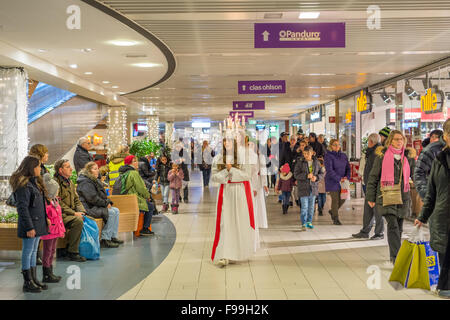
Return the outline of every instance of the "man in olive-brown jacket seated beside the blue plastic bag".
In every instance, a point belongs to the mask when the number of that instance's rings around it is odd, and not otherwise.
[[[70,181],[72,167],[69,160],[62,159],[55,163],[55,180],[59,184],[59,202],[62,211],[64,227],[70,230],[66,235],[68,257],[72,261],[85,262],[86,258],[80,256],[79,247],[81,231],[83,230],[83,216],[86,214],[83,204],[75,190],[75,185]]]

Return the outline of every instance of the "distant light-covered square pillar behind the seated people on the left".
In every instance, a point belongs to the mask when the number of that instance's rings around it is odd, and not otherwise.
[[[119,152],[127,144],[127,109],[126,107],[108,108],[108,155]]]

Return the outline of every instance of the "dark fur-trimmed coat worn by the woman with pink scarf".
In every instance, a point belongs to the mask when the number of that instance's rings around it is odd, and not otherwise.
[[[383,198],[381,196],[381,168],[383,165],[384,154],[387,148],[380,146],[375,150],[376,158],[373,163],[372,170],[370,170],[369,181],[367,182],[366,200],[369,202],[375,202],[377,205],[377,212],[381,215],[393,214],[397,218],[404,218],[409,212],[409,202],[411,201],[410,192],[404,191],[403,181],[409,181],[414,172],[414,165],[416,157],[416,150],[412,148],[406,148],[405,157],[408,159],[410,168],[410,177],[405,177],[402,174],[402,181],[400,187],[402,190],[402,205],[392,205],[383,207]],[[398,184],[400,180],[400,173],[403,170],[401,167],[401,160],[394,160],[394,184]]]

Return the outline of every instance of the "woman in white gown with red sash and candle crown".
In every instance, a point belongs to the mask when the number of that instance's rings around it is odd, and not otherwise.
[[[224,139],[222,154],[212,164],[212,181],[219,183],[216,233],[211,260],[221,267],[230,260],[247,260],[255,252],[255,216],[251,167],[238,164],[238,147]]]

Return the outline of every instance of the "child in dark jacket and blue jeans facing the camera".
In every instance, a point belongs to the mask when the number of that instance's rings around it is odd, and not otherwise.
[[[323,179],[319,160],[313,158],[314,150],[311,146],[303,150],[303,158],[295,164],[294,177],[297,180],[298,197],[301,202],[300,220],[302,231],[312,229],[312,217],[314,215],[315,200],[319,194],[319,180]]]

